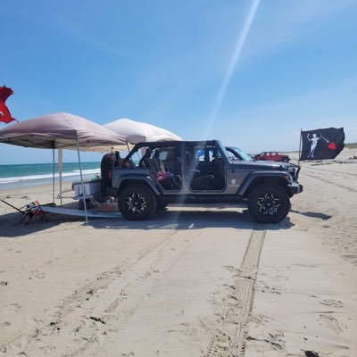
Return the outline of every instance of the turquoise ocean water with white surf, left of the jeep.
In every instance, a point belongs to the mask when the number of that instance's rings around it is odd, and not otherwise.
[[[85,179],[94,178],[100,174],[100,162],[81,162]],[[36,186],[58,181],[58,164],[55,163],[26,163],[0,165],[0,190],[4,188]],[[62,179],[76,180],[80,177],[79,162],[62,163]]]

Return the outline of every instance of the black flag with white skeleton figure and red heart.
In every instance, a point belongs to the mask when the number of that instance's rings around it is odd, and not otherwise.
[[[302,131],[303,149],[300,160],[335,159],[345,147],[344,128]]]

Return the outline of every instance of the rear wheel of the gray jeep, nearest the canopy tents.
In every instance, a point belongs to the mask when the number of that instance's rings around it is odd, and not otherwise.
[[[156,196],[144,184],[129,185],[120,192],[118,207],[127,220],[147,220],[156,211]]]

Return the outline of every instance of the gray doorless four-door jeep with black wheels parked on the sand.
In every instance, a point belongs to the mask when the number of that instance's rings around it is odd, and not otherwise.
[[[218,140],[139,143],[124,159],[104,155],[102,190],[118,198],[128,220],[169,203],[239,203],[259,222],[283,220],[290,198],[303,191],[300,167],[240,159]]]

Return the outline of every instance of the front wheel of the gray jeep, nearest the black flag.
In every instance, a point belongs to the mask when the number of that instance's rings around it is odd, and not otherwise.
[[[259,185],[248,197],[248,211],[260,223],[278,223],[286,218],[289,210],[286,189],[278,185]]]

